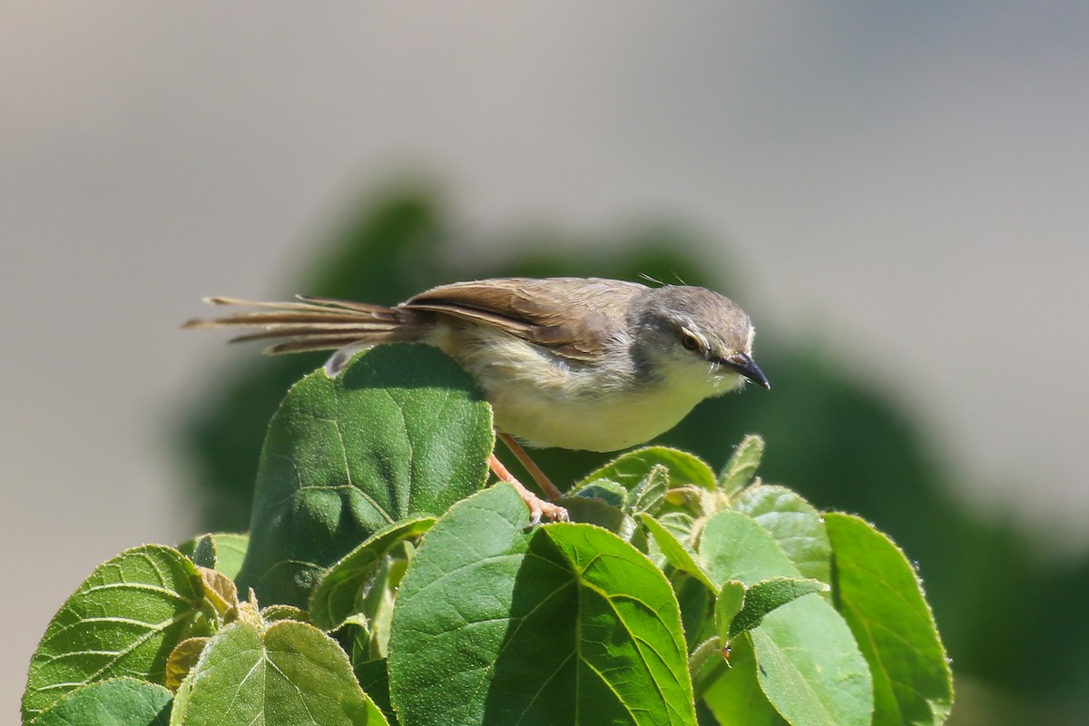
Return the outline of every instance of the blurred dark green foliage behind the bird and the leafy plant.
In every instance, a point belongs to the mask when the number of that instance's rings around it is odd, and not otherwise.
[[[586,238],[577,246],[538,232],[495,239],[487,255],[458,255],[439,199],[421,185],[388,189],[360,204],[339,233],[314,245],[310,269],[279,294],[395,304],[455,280],[646,275],[705,285],[759,308],[761,291],[710,279],[696,241],[673,227]],[[750,387],[705,402],[656,443],[721,466],[732,442],[760,433],[768,442],[764,481],[788,484],[819,508],[857,513],[891,534],[917,563],[954,673],[974,684],[951,723],[1019,724],[1025,713],[1043,709],[1050,724],[1089,722],[1089,559],[1043,562],[1024,533],[967,510],[950,495],[951,475],[926,450],[916,424],[880,391],[848,376],[830,353],[835,341],[786,341],[757,323],[758,360],[773,390]],[[257,359],[247,353],[240,350],[229,370],[210,374],[180,436],[209,531],[247,529],[268,422],[287,387],[325,360],[321,354]],[[607,458],[561,450],[535,454],[561,487]],[[972,703],[992,704],[998,694],[1011,705],[980,721],[982,706]]]

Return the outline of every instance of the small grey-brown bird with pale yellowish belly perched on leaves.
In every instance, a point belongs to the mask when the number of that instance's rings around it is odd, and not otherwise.
[[[613,452],[672,429],[705,398],[751,381],[771,387],[752,357],[755,329],[733,300],[692,285],[601,278],[494,278],[439,285],[394,306],[297,295],[183,328],[257,328],[232,342],[269,341],[266,354],[334,350],[334,377],[360,350],[424,343],[457,360],[491,404],[495,430],[550,500],[562,496],[521,446]],[[492,471],[533,514],[566,519],[492,455]]]

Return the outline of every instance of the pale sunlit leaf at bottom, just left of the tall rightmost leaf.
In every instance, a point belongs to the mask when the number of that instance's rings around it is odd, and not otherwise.
[[[792,726],[867,726],[873,687],[866,660],[840,614],[799,598],[749,631],[757,678]]]

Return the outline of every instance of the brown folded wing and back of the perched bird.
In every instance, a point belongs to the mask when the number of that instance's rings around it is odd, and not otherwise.
[[[440,285],[401,307],[502,330],[576,360],[595,360],[625,323],[636,283],[583,278],[499,278]]]

